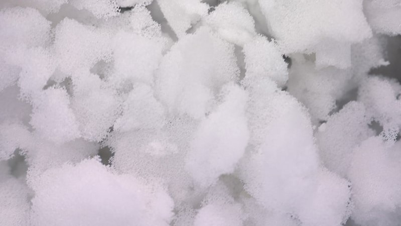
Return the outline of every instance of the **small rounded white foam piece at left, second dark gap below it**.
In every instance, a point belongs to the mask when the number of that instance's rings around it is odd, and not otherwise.
[[[67,91],[49,88],[35,101],[30,124],[45,139],[63,143],[80,137]]]

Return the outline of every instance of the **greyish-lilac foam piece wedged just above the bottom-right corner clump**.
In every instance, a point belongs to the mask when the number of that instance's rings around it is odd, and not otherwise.
[[[329,170],[346,176],[354,148],[373,135],[369,123],[365,106],[351,101],[319,127],[316,138],[320,157]]]

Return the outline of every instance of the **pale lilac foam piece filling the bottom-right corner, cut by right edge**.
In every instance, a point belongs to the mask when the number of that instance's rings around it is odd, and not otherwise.
[[[386,147],[378,137],[354,151],[349,178],[355,204],[352,219],[360,225],[396,225],[399,222],[400,143]]]

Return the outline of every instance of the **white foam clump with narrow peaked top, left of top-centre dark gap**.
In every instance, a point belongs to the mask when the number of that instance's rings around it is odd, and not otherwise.
[[[113,69],[109,79],[120,86],[136,82],[153,85],[153,74],[169,39],[145,6],[136,5],[127,15],[126,27],[116,29],[111,39]]]

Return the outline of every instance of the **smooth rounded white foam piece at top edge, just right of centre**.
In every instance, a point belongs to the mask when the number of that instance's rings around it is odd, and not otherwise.
[[[243,46],[256,35],[252,17],[236,2],[218,5],[203,22],[224,40],[239,46]]]

